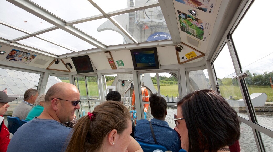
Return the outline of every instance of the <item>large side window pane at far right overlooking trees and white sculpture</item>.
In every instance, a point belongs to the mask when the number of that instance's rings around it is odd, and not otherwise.
[[[273,50],[271,49],[271,35],[273,34],[273,31],[268,30],[267,32],[260,32],[252,30],[249,32],[249,28],[246,28],[254,18],[259,17],[257,10],[262,6],[263,4],[259,1],[253,2],[250,9],[233,32],[232,39],[242,65],[242,72],[249,74],[249,77],[245,78],[245,81],[258,123],[272,128],[272,125],[269,122],[273,121],[273,117],[268,117],[266,121],[263,121],[263,117],[259,116],[263,115],[264,117],[267,117],[267,112],[272,113],[272,110],[269,110],[268,108],[272,107],[271,103],[273,97]],[[272,14],[269,6],[263,6],[263,8],[263,13]],[[251,41],[247,41],[246,38],[250,37],[252,38]],[[259,45],[253,45],[253,42]]]

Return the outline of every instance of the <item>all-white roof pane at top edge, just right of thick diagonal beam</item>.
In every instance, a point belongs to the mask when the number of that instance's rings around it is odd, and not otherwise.
[[[88,1],[82,1],[82,0],[80,1],[32,0],[32,1],[66,21],[82,19],[85,17],[101,14]]]

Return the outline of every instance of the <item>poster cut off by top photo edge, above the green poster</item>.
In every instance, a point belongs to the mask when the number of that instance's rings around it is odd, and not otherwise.
[[[176,0],[177,2],[180,2],[185,5],[189,5],[191,7],[194,7],[198,10],[213,14],[214,6],[216,0]],[[196,10],[197,11],[197,10]]]

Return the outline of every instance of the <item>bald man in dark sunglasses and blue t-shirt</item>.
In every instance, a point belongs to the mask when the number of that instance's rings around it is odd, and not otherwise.
[[[72,128],[62,123],[72,121],[79,109],[80,93],[76,86],[60,82],[50,87],[44,110],[21,126],[11,138],[7,151],[62,151]]]

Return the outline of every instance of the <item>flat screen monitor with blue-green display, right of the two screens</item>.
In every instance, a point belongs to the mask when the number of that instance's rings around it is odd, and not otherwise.
[[[135,70],[159,69],[157,49],[143,48],[130,50]]]

